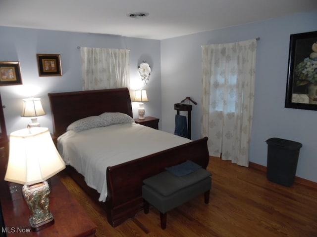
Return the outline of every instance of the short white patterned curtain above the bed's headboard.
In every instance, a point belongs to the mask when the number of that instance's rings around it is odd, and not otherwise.
[[[81,47],[83,90],[130,87],[129,50]]]

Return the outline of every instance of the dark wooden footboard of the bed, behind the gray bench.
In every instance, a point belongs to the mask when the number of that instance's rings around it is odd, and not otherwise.
[[[208,138],[202,138],[143,158],[107,168],[108,196],[106,211],[108,222],[117,226],[144,208],[143,180],[162,172],[165,167],[192,160],[207,168]]]

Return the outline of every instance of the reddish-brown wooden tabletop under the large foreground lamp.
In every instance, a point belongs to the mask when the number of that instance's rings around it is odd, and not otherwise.
[[[15,195],[12,200],[8,185],[3,181],[0,198],[5,227],[0,231],[5,232],[7,237],[95,237],[97,226],[61,183],[58,175],[53,176],[49,183],[50,211],[55,222],[46,229],[32,232],[30,210],[21,194],[22,185],[17,185],[20,195]]]

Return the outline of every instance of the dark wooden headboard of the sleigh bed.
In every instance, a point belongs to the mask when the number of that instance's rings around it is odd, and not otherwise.
[[[80,118],[98,116],[104,112],[121,112],[133,118],[128,88],[49,93],[48,95],[56,137],[63,134],[70,123]]]

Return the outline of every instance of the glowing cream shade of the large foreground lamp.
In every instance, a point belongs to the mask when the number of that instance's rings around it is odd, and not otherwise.
[[[65,168],[47,127],[10,134],[9,160],[4,180],[18,184],[43,182]]]

